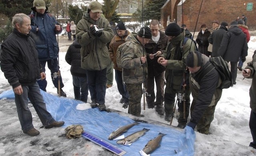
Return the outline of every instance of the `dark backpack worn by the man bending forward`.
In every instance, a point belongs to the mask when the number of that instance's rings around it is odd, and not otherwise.
[[[213,65],[212,68],[215,68],[218,71],[220,78],[222,80],[219,88],[225,89],[225,88],[229,88],[230,86],[233,86],[232,75],[228,68],[228,62],[223,60],[223,58],[220,56],[219,57],[210,57],[209,59],[210,59],[209,60],[210,63]],[[206,68],[206,70],[204,70],[200,76],[203,77],[208,72],[210,72],[210,70],[212,70],[212,68]]]

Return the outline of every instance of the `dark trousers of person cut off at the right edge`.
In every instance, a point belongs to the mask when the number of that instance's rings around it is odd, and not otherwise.
[[[256,148],[256,113],[251,110],[249,127],[252,133],[252,142],[249,146]]]

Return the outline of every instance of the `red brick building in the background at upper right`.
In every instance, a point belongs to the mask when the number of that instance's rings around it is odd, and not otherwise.
[[[198,13],[202,0],[167,0],[161,8],[161,23],[166,27],[168,16],[170,19],[176,19],[178,25],[182,25],[182,7],[183,21],[190,31],[194,31]],[[230,23],[244,14],[247,18],[249,30],[256,30],[256,1],[255,0],[203,0],[202,8],[198,18],[196,31],[200,30],[202,24],[208,28],[212,27],[213,20],[227,21]]]

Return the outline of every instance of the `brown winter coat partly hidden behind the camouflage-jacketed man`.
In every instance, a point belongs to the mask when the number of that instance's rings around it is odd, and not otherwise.
[[[118,68],[117,63],[116,63],[117,48],[119,47],[119,45],[122,45],[123,43],[125,43],[125,39],[129,34],[130,34],[130,32],[128,30],[126,30],[126,33],[124,34],[123,37],[118,36],[118,33],[117,33],[116,35],[114,35],[112,41],[109,44],[109,49],[108,49],[109,57],[114,64],[113,68],[116,70],[122,71],[122,68]]]

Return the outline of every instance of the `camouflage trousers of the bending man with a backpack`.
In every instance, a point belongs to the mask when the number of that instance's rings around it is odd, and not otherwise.
[[[191,114],[193,113],[195,103],[196,103],[195,100],[193,100],[191,103],[191,107],[190,107]],[[202,115],[201,119],[198,121],[198,124],[196,125],[196,129],[199,133],[206,134],[206,135],[209,134],[210,125],[214,119],[214,112],[215,112],[216,105],[209,106],[204,111],[204,114]]]

